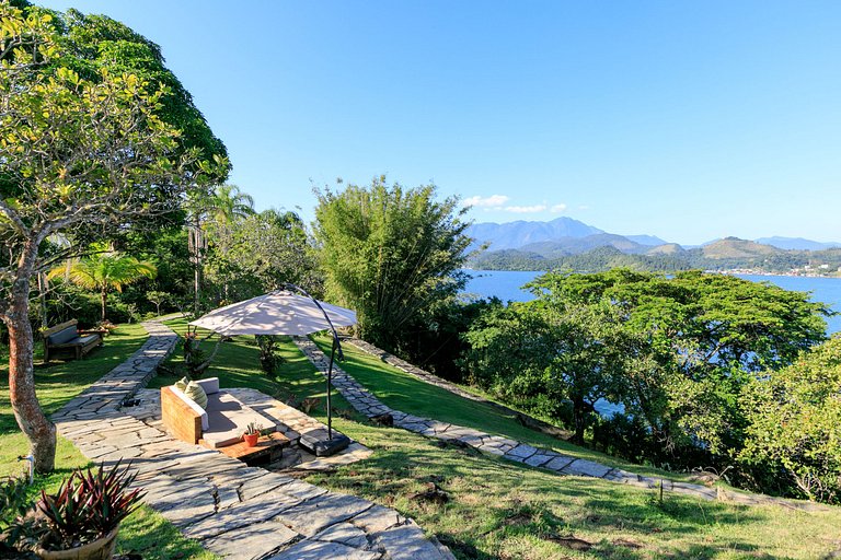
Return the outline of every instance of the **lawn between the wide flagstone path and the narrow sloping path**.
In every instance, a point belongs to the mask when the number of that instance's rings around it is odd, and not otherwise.
[[[181,328],[177,323],[173,326]],[[299,401],[322,398],[321,374],[290,341],[281,343],[281,352],[286,362],[277,381],[270,381],[257,366],[253,342],[238,338],[220,349],[208,375],[218,375],[227,386],[261,385],[280,395],[292,393]],[[356,352],[348,349],[347,353],[343,366],[355,363],[366,370],[366,364],[355,362]],[[369,368],[354,374],[381,377],[383,383],[392,376],[378,363]],[[346,406],[341,398],[335,402],[337,408]],[[448,401],[441,410],[451,412],[451,406]],[[841,547],[841,509],[803,513],[669,494],[660,504],[652,491],[560,477],[348,416],[334,418],[335,427],[369,446],[373,455],[307,480],[396,509],[436,535],[460,559],[807,559]],[[428,483],[438,485],[449,500],[436,503],[417,498]],[[563,544],[568,537],[591,548],[573,550]]]

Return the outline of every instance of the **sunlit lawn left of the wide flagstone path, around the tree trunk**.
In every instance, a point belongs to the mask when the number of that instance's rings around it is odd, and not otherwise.
[[[42,408],[51,415],[79,395],[93,382],[125,361],[147,339],[140,325],[124,325],[113,331],[102,348],[84,360],[42,363],[43,348],[36,345],[35,390]],[[26,470],[18,456],[28,453],[28,442],[18,428],[9,400],[8,352],[0,351],[0,478]],[[41,490],[55,492],[74,468],[91,466],[90,462],[64,438],[58,438],[56,469],[49,475],[37,475],[31,487],[33,500]],[[178,530],[154,510],[143,505],[120,525],[117,552],[139,553],[145,560],[217,558],[205,551],[198,542],[185,539]]]

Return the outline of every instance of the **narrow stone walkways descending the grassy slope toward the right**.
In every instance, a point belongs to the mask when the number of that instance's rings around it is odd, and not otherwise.
[[[309,338],[295,337],[295,343],[303,352],[304,355],[315,365],[315,368],[326,375],[327,358],[319,349],[319,347]],[[377,357],[389,357],[387,360],[389,363],[396,360],[402,364],[407,364],[391,354],[373,347],[367,342],[352,339],[350,342],[357,346],[360,350],[372,353]],[[392,360],[394,358],[394,360]],[[402,369],[401,365],[394,364]],[[408,364],[411,365],[411,364]],[[413,372],[406,372],[426,383],[433,383],[439,387],[451,390],[454,385],[437,377],[428,372],[424,372],[418,368],[411,366]],[[406,371],[406,370],[403,370]],[[418,374],[417,372],[422,372]],[[375,418],[382,415],[390,415],[394,421],[394,425],[408,430],[411,432],[419,433],[429,438],[437,438],[439,440],[454,440],[461,444],[469,445],[492,455],[500,456],[509,460],[517,463],[525,463],[532,467],[540,467],[558,475],[573,475],[601,478],[611,482],[618,482],[623,485],[631,485],[640,488],[659,489],[663,485],[663,489],[668,492],[676,492],[681,494],[689,494],[703,500],[723,500],[740,504],[759,505],[759,504],[779,504],[787,508],[798,510],[818,510],[821,509],[819,504],[811,502],[800,502],[794,500],[783,500],[772,498],[762,494],[749,494],[744,492],[734,492],[725,490],[718,487],[706,487],[702,485],[695,485],[691,482],[678,482],[669,479],[646,477],[631,472],[621,468],[610,467],[588,459],[573,457],[563,453],[557,453],[550,450],[534,447],[532,445],[518,442],[510,438],[502,435],[493,435],[472,428],[465,428],[462,425],[441,422],[430,418],[416,417],[407,415],[400,410],[394,410],[385,406],[377,397],[375,397],[368,389],[366,389],[360,383],[354,380],[342,368],[333,364],[333,385],[339,393],[347,399],[350,405],[365,415],[368,418]],[[456,387],[458,388],[458,387]],[[485,400],[482,397],[469,394],[463,389],[458,388],[459,394],[471,400]]]

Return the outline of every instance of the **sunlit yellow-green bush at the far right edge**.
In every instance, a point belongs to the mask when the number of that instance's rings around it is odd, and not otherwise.
[[[841,338],[748,385],[740,458],[781,468],[806,497],[841,503]]]

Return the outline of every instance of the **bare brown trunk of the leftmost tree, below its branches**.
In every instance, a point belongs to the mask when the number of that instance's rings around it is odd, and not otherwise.
[[[49,472],[56,465],[56,425],[44,415],[35,395],[34,341],[30,324],[31,267],[30,270],[25,266],[22,268],[4,317],[9,327],[9,397],[18,425],[30,440],[35,470]]]

